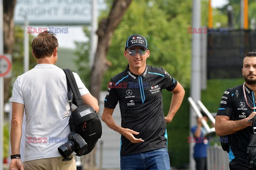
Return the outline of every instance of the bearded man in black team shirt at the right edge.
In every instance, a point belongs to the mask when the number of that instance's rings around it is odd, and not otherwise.
[[[242,73],[245,82],[227,89],[221,97],[220,108],[215,120],[217,135],[228,135],[229,168],[231,170],[248,170],[247,146],[253,134],[252,120],[255,112],[256,94],[256,53],[249,52],[243,60]]]

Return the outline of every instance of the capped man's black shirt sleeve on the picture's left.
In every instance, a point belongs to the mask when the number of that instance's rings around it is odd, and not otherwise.
[[[117,90],[115,86],[112,85],[113,79],[111,79],[110,82],[108,82],[108,92],[104,101],[104,107],[107,108],[116,108],[116,105],[118,103]]]

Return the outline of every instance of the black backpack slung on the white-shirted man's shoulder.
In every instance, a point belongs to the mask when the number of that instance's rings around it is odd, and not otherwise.
[[[83,155],[86,155],[93,150],[98,139],[101,137],[101,121],[96,111],[91,106],[84,104],[73,72],[69,69],[63,69],[63,71],[67,78],[68,100],[71,111],[72,103],[77,106],[69,118],[70,130],[81,135],[87,143],[87,151],[83,153]]]

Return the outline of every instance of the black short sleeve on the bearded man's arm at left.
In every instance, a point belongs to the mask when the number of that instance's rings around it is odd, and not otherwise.
[[[220,100],[220,107],[218,109],[217,115],[232,117],[233,115],[233,105],[232,105],[232,94],[231,90],[227,89]]]

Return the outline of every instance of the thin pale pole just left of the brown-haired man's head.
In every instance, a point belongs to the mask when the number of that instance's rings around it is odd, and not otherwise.
[[[24,73],[29,70],[29,35],[28,35],[28,25],[29,21],[27,15],[24,16]]]

